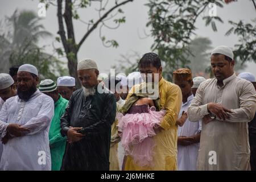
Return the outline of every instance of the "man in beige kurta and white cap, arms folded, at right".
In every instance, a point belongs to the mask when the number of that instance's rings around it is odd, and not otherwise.
[[[256,110],[251,82],[234,73],[234,55],[226,46],[210,56],[215,78],[202,82],[188,107],[189,121],[202,119],[198,170],[250,170],[248,124]]]

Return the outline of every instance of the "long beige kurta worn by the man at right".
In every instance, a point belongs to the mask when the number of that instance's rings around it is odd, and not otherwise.
[[[215,119],[206,125],[202,123],[197,169],[250,170],[247,122],[254,117],[256,92],[251,82],[235,74],[223,82],[221,88],[216,78],[202,82],[188,108],[190,121],[198,121],[209,114],[207,104],[210,102],[233,111],[226,121]]]

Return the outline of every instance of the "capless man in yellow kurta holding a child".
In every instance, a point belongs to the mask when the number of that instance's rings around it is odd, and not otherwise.
[[[160,107],[166,110],[160,127],[156,130],[154,141],[153,162],[154,167],[139,167],[133,162],[131,156],[127,156],[125,170],[177,170],[177,125],[176,120],[179,115],[182,93],[179,86],[164,80],[162,77],[162,65],[160,58],[155,53],[146,53],[138,63],[139,71],[146,82],[158,83]],[[151,78],[152,77],[152,78]],[[158,78],[157,78],[158,77]],[[139,85],[131,88],[127,98],[138,90]]]

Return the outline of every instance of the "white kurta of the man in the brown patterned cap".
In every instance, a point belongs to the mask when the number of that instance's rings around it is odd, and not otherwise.
[[[187,112],[188,106],[193,100],[193,94],[188,97],[188,101],[181,105],[179,117],[182,112]],[[182,127],[178,127],[178,137],[191,137],[201,132],[201,121],[191,122],[189,119],[186,120]],[[189,146],[177,145],[177,163],[179,171],[195,171],[196,162],[199,150],[199,143],[193,143]]]

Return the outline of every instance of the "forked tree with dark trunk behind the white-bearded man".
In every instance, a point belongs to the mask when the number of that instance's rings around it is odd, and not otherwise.
[[[76,78],[76,85],[80,88],[81,84],[77,78],[77,53],[80,51],[82,44],[86,42],[86,39],[99,27],[100,30],[100,39],[106,47],[118,47],[116,40],[108,40],[106,36],[102,35],[102,27],[109,29],[116,29],[120,24],[125,23],[125,16],[117,15],[123,14],[122,6],[126,3],[133,2],[133,0],[124,0],[124,1],[108,1],[108,0],[40,0],[40,2],[46,3],[46,7],[53,5],[57,7],[57,18],[59,24],[59,37],[56,37],[57,42],[63,44],[63,48],[57,48],[59,55],[64,55],[68,60],[68,69],[69,75]],[[80,9],[89,9],[92,7],[93,3],[97,3],[98,9],[94,9],[98,12],[97,19],[88,19],[88,17],[80,17],[78,10]],[[90,17],[89,17],[90,18]],[[82,38],[77,41],[75,39],[75,28],[73,26],[74,20],[80,20],[80,22],[86,25],[85,33]],[[112,25],[109,25],[109,21],[113,20]],[[114,23],[114,25],[113,25]]]

